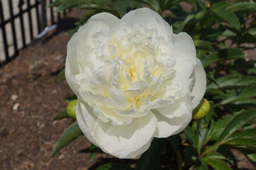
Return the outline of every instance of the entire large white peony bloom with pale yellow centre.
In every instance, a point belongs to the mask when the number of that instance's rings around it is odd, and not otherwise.
[[[130,159],[186,128],[206,90],[193,40],[148,8],[91,17],[67,45],[66,81],[88,140]]]

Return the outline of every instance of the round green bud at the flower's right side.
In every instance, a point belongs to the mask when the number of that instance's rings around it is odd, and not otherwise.
[[[210,112],[210,103],[202,98],[200,104],[193,110],[193,120],[201,120]]]

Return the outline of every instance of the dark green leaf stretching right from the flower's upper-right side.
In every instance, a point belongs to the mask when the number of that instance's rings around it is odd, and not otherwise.
[[[244,57],[245,54],[242,53],[240,49],[222,49],[218,53],[212,53],[202,59],[202,65],[204,67],[213,64],[218,61],[227,61],[231,59],[237,59]]]

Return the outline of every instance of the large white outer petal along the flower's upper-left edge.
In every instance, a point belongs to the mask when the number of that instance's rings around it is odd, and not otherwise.
[[[121,21],[114,15],[109,13],[95,14],[88,22],[81,26],[77,33],[75,33],[67,45],[67,57],[65,75],[66,81],[70,88],[78,95],[78,87],[74,80],[74,75],[79,73],[78,58],[85,53],[90,52],[90,45],[94,44],[93,35],[98,32],[106,33],[108,36],[112,31],[119,26]],[[101,41],[107,41],[108,37],[101,38]],[[80,53],[82,51],[83,53]],[[86,57],[86,56],[82,56]]]

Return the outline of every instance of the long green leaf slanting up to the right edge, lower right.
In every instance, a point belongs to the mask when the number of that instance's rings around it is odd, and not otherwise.
[[[246,125],[246,123],[254,117],[256,117],[256,109],[246,110],[236,115],[234,119],[232,119],[232,121],[230,121],[230,123],[226,125],[226,128],[224,128],[222,134],[218,137],[218,140],[216,141],[215,144],[218,144],[223,140],[226,140],[228,137],[234,134],[234,132],[236,132],[238,128],[241,128],[243,125]]]

